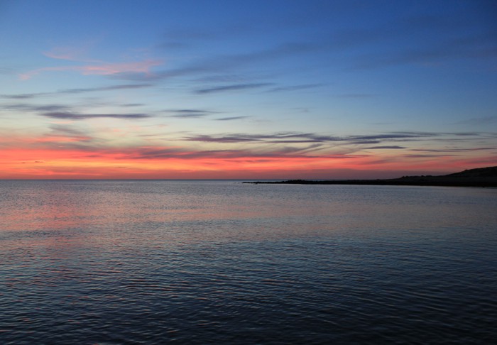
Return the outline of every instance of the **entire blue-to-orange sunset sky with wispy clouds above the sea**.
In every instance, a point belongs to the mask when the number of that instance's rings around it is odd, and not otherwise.
[[[497,2],[0,1],[0,178],[497,165]]]

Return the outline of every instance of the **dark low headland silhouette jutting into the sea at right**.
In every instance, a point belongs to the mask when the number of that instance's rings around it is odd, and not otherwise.
[[[397,185],[397,186],[450,186],[450,187],[497,187],[497,166],[476,168],[449,175],[403,176],[383,180],[286,180],[271,182],[244,182],[258,185]]]

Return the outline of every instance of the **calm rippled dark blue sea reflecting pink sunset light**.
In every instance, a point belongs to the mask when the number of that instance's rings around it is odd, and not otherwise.
[[[1,344],[488,344],[497,190],[0,181]]]

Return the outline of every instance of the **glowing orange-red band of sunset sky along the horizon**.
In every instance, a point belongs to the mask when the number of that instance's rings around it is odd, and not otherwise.
[[[53,138],[47,140],[52,141]],[[65,138],[60,138],[64,141]],[[147,148],[160,150],[164,148]],[[481,160],[410,160],[389,156],[268,156],[193,157],[195,152],[172,153],[170,158],[141,158],[138,148],[102,151],[22,149],[0,152],[1,179],[161,179],[161,178],[382,178],[399,177],[405,171],[456,172],[478,168]],[[439,170],[443,167],[445,170]],[[449,171],[447,171],[449,169]],[[368,175],[369,172],[369,175]],[[376,174],[376,175],[375,175]]]

